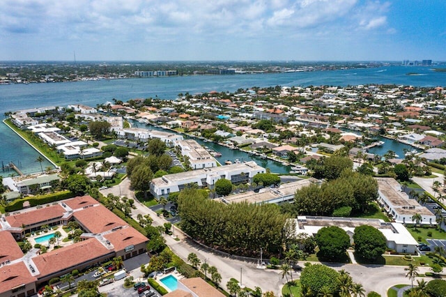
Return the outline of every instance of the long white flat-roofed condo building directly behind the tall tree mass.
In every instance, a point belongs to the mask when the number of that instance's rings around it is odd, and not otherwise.
[[[153,178],[151,182],[151,193],[156,198],[168,196],[169,193],[179,192],[187,185],[196,184],[199,188],[208,187],[212,189],[215,182],[220,178],[226,178],[234,184],[248,183],[259,173],[266,170],[254,161],[224,165],[208,169],[198,169],[192,172],[180,172],[178,174],[167,174],[160,178]]]

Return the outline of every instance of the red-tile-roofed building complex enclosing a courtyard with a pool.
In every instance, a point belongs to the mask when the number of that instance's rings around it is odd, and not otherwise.
[[[17,215],[3,216],[0,229],[0,297],[36,294],[53,277],[82,270],[86,266],[121,256],[123,259],[146,252],[148,238],[89,196]],[[82,241],[40,254],[34,249],[24,255],[14,236],[43,224],[68,224],[75,220],[86,231]]]

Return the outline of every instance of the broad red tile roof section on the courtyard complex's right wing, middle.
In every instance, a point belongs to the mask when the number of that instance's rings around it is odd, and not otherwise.
[[[82,211],[75,211],[73,216],[84,225],[84,227],[89,229],[91,233],[96,234],[127,225],[124,220],[118,218],[117,215],[102,205],[85,208]],[[92,218],[94,218],[94,220]]]

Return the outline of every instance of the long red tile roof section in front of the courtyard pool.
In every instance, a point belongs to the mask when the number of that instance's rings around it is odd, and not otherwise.
[[[33,258],[33,262],[40,272],[40,277],[43,277],[63,271],[68,267],[92,261],[110,252],[114,253],[113,250],[107,250],[96,238],[90,238],[86,241],[40,254]]]

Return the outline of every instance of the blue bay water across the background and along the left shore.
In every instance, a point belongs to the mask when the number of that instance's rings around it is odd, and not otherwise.
[[[417,73],[417,75],[406,75],[407,73]],[[177,97],[178,93],[189,92],[194,94],[213,90],[233,92],[240,88],[247,89],[252,86],[348,86],[357,84],[445,86],[446,73],[438,73],[426,67],[389,66],[309,73],[206,75],[147,79],[103,79],[89,82],[48,84],[9,84],[0,86],[0,114],[32,107],[66,107],[70,104],[84,104],[95,107],[98,104],[112,101],[113,98],[123,101],[149,97],[172,100]],[[0,139],[0,162],[13,161],[24,173],[40,171],[40,164],[36,162],[38,153],[27,146],[3,123],[0,124]],[[385,142],[390,142],[390,140],[386,139]],[[213,148],[211,144],[208,146]],[[215,148],[215,150],[223,153],[220,147]],[[236,153],[233,152],[235,158],[237,158]],[[400,155],[398,152],[397,154]],[[239,159],[241,158],[245,157],[240,155]],[[258,160],[258,162],[259,165],[263,166],[261,160]],[[49,162],[42,165],[44,168],[50,166]],[[271,170],[274,172],[273,168]],[[0,174],[8,176],[10,173],[0,172]]]

